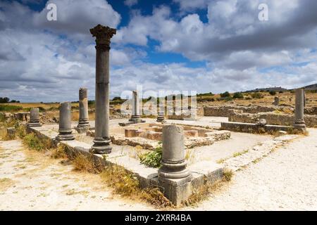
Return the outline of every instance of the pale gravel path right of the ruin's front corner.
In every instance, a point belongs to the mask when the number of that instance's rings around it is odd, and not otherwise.
[[[317,129],[309,133],[236,172],[194,210],[317,210]]]

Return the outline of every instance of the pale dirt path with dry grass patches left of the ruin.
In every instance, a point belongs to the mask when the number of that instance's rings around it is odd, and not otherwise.
[[[0,141],[0,210],[151,210],[20,141]]]

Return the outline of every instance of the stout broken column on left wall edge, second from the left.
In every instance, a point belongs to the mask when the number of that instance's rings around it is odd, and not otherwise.
[[[56,136],[56,140],[58,141],[70,141],[74,140],[75,137],[72,134],[71,127],[71,104],[70,102],[61,103],[59,106],[59,127],[58,127],[58,136]]]

